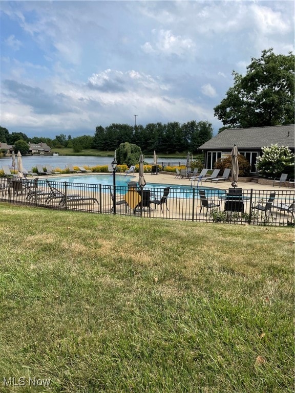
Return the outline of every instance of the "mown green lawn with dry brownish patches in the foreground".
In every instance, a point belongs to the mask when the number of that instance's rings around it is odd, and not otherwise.
[[[1,392],[293,391],[293,229],[0,206]]]

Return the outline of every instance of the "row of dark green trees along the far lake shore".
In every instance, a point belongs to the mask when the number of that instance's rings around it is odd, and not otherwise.
[[[65,134],[56,135],[55,139],[44,137],[29,138],[24,133],[9,133],[0,126],[0,141],[14,145],[19,140],[29,143],[47,143],[52,149],[68,147],[78,152],[82,149],[113,151],[121,143],[129,142],[139,146],[143,153],[156,150],[159,153],[183,151],[196,152],[198,147],[213,136],[212,124],[208,121],[195,120],[180,124],[179,122],[149,123],[146,126],[129,124],[111,124],[107,127],[97,126],[94,136],[83,135],[72,138]]]

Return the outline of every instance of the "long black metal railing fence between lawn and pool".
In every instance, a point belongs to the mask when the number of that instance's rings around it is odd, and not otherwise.
[[[147,188],[0,179],[0,201],[60,210],[134,215],[166,220],[251,225],[294,225],[295,191]],[[203,191],[203,193],[201,192]],[[273,194],[274,193],[274,194]],[[114,209],[115,206],[115,209]]]

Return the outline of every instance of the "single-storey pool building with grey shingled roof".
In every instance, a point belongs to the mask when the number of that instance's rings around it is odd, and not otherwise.
[[[217,159],[230,154],[236,144],[239,153],[246,157],[251,164],[251,173],[257,173],[256,160],[262,155],[262,147],[278,144],[288,146],[295,151],[295,126],[273,125],[269,127],[225,129],[199,147],[205,154],[205,167],[214,168]]]

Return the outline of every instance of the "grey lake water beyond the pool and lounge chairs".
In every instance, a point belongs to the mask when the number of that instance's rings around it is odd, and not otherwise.
[[[113,157],[91,157],[91,156],[23,156],[23,166],[27,170],[31,170],[36,165],[51,165],[53,168],[66,169],[68,164],[72,164],[73,166],[99,166],[99,165],[108,165],[113,161]],[[17,160],[16,165],[17,165]],[[145,161],[147,163],[152,164],[153,158],[146,158]],[[175,159],[158,159],[158,164],[161,163],[185,163],[185,161],[176,161]],[[12,157],[2,157],[0,158],[0,168],[2,165],[9,165],[11,167]]]

